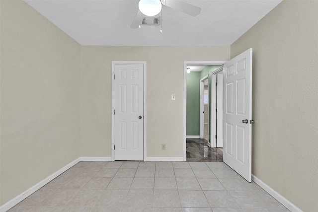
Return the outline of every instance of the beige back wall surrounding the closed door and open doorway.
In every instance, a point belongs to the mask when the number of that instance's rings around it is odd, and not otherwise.
[[[229,57],[229,46],[82,46],[80,155],[111,156],[112,61],[147,62],[147,157],[183,157],[183,62]]]

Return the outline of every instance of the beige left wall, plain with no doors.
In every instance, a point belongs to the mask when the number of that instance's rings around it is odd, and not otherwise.
[[[79,157],[80,46],[23,1],[0,7],[3,205]]]

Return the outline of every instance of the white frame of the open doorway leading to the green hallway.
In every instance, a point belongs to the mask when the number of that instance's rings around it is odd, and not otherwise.
[[[191,65],[221,65],[227,61],[184,61],[183,62],[183,161],[187,160],[187,66]]]

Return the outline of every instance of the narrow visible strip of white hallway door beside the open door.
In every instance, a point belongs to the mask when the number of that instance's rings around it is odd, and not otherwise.
[[[223,147],[223,74],[217,74],[217,147]]]

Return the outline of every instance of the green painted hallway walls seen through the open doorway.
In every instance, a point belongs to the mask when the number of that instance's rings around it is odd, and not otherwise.
[[[200,135],[200,79],[209,75],[209,87],[211,88],[211,73],[220,67],[221,66],[206,66],[200,72],[193,71],[187,73],[187,136]],[[210,102],[211,90],[209,91],[209,122],[211,117]]]

